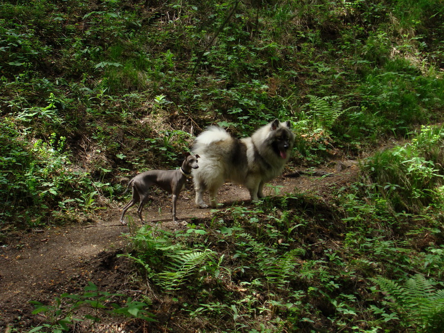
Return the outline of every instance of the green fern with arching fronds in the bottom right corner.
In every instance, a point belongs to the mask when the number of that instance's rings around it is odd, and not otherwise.
[[[402,286],[383,277],[373,279],[386,293],[388,305],[407,325],[421,332],[442,332],[444,327],[444,290],[436,290],[431,280],[416,274]]]

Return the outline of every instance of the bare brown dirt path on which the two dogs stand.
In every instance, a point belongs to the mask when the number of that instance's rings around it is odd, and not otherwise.
[[[264,188],[264,193],[308,193],[328,202],[334,188],[357,180],[359,167],[357,161],[343,160],[315,169],[314,175],[288,177],[291,174],[289,170],[284,172],[287,177],[275,179],[271,186]],[[275,188],[278,188],[278,193],[275,193]],[[249,193],[239,185],[225,184],[218,199],[225,205],[233,202],[248,205]],[[145,221],[152,225],[158,223],[170,230],[185,229],[185,222],[171,221],[170,207],[171,198],[166,195],[161,200],[156,199],[154,205],[145,206]],[[189,222],[192,218],[205,218],[212,214],[210,209],[195,207],[194,191],[191,185],[187,185],[178,200],[178,218]],[[136,206],[130,208],[127,215],[140,225]],[[48,318],[43,314],[31,314],[34,306],[29,301],[48,304],[63,293],[81,293],[88,281],[96,284],[101,291],[134,292],[137,287],[129,279],[134,265],[129,259],[117,256],[126,252],[129,244],[126,235],[130,231],[128,226],[119,223],[119,217],[118,209],[108,209],[97,213],[86,224],[11,233],[0,248],[0,332],[16,332],[12,328],[37,325],[39,319],[47,322]],[[94,332],[120,332],[118,325],[125,323],[116,317],[107,318],[101,326],[95,327]]]

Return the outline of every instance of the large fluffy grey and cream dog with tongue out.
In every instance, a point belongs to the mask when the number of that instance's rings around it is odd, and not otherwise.
[[[263,185],[282,173],[294,142],[290,122],[278,119],[243,139],[232,137],[220,127],[209,127],[191,149],[200,156],[199,169],[192,170],[197,206],[208,207],[203,201],[208,191],[210,206],[217,207],[217,193],[225,182],[244,185],[251,199],[257,201],[263,197]]]

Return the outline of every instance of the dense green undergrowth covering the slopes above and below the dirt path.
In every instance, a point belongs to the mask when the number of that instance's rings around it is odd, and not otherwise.
[[[114,205],[119,178],[178,165],[212,123],[242,136],[291,120],[308,166],[408,139],[328,205],[296,195],[143,228],[131,257],[205,332],[438,332],[443,129],[420,125],[442,121],[441,1],[0,8],[2,233]]]

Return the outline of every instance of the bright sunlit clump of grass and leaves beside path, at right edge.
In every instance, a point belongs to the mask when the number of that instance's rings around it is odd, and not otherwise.
[[[411,144],[374,154],[364,170],[396,212],[420,212],[440,201],[443,143],[442,128],[423,127]]]

